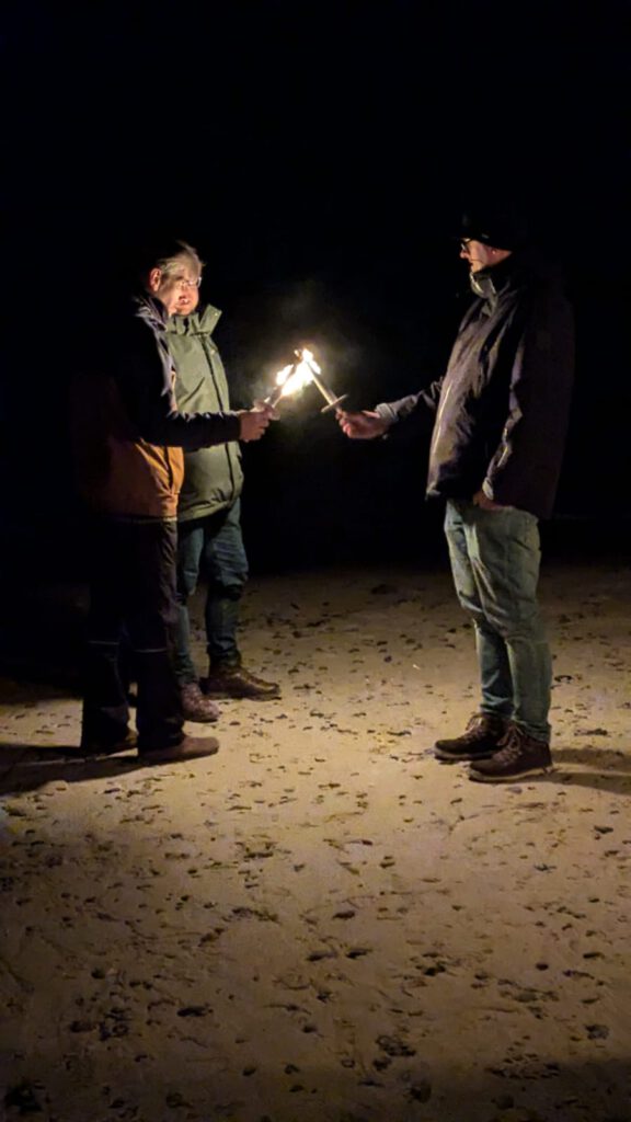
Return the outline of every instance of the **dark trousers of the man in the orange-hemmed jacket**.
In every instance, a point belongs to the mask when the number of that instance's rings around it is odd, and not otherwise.
[[[174,668],[175,522],[100,519],[91,533],[90,615],[82,744],[125,737],[129,708],[121,681],[121,638],[138,682],[138,748],[180,744],[183,717]]]

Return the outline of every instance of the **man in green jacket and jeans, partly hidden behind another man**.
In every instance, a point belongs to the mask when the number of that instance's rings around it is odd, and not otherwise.
[[[201,277],[202,263],[195,256]],[[182,288],[174,314],[166,324],[168,351],[176,369],[177,406],[185,412],[226,412],[230,408],[226,371],[212,332],[220,312],[199,307],[199,289]],[[244,482],[241,454],[236,441],[189,450],[177,507],[177,628],[175,665],[182,705],[189,720],[204,716],[212,698],[250,698],[264,701],[280,696],[276,682],[246,669],[238,646],[239,601],[248,578],[240,524]],[[208,678],[199,675],[191,656],[188,601],[200,574],[208,580],[204,622],[209,655]],[[218,709],[214,706],[214,717]]]

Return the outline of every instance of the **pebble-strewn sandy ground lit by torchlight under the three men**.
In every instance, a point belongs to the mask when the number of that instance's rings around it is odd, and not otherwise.
[[[283,698],[185,766],[55,758],[77,698],[4,681],[0,1118],[629,1122],[631,581],[541,592],[557,767],[507,787],[431,754],[477,696],[443,571],[253,583]]]

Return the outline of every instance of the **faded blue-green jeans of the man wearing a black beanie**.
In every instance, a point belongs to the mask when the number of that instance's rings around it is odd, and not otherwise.
[[[537,603],[537,518],[450,499],[445,533],[456,592],[475,627],[482,711],[549,742],[551,660]]]

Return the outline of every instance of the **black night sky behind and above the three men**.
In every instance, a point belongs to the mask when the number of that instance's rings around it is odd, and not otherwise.
[[[629,514],[627,3],[22,2],[2,49],[11,541],[52,512],[72,524],[72,339],[140,231],[200,248],[244,402],[309,338],[368,406],[440,374],[466,289],[449,234],[474,192],[524,199],[568,264],[560,513]],[[290,563],[418,552],[406,523],[437,522],[422,450],[350,445],[309,402],[247,450],[255,562],[278,537]]]

